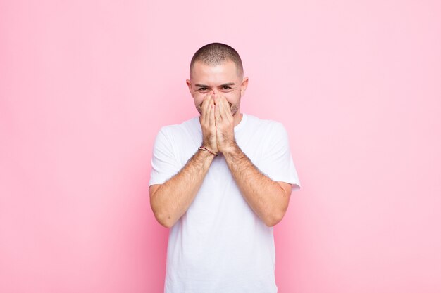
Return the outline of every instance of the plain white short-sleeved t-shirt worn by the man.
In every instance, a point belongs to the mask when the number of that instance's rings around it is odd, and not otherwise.
[[[274,181],[300,188],[285,127],[243,114],[237,145]],[[202,142],[199,116],[163,126],[156,136],[149,185],[173,177]],[[213,159],[186,213],[170,228],[166,293],[275,293],[273,227],[242,197],[225,157]]]

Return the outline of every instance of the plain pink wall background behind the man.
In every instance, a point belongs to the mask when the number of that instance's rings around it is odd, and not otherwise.
[[[435,0],[0,1],[0,292],[162,292],[151,148],[212,41],[290,134],[279,292],[441,292]]]

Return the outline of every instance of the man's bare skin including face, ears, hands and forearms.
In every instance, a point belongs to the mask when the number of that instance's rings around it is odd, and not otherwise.
[[[240,123],[240,98],[248,85],[231,61],[221,65],[194,63],[187,86],[201,114],[202,146],[222,152],[244,200],[266,224],[279,223],[290,201],[290,183],[273,181],[254,166],[237,145],[234,127]],[[187,164],[163,184],[149,188],[151,209],[161,225],[170,228],[192,204],[214,156],[197,150]]]

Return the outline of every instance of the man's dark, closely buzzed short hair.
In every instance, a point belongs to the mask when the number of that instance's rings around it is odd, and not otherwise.
[[[211,43],[199,48],[194,53],[192,61],[190,62],[190,76],[192,75],[193,65],[196,61],[201,61],[206,65],[221,65],[227,61],[235,63],[237,73],[239,75],[244,74],[244,67],[242,66],[242,60],[239,53],[231,46],[221,43]]]

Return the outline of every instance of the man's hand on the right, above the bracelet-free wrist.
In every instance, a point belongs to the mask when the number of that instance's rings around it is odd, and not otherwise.
[[[235,141],[235,121],[232,117],[230,105],[224,96],[214,96],[215,105],[215,121],[216,121],[216,138],[218,150],[220,152],[228,152],[234,145]]]

